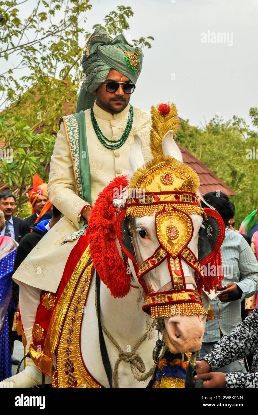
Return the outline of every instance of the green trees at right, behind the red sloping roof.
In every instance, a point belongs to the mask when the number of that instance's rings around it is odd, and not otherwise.
[[[257,113],[256,108],[252,110]],[[231,200],[239,227],[258,205],[258,162],[247,158],[248,149],[258,149],[258,132],[236,116],[227,122],[215,117],[203,128],[191,127],[186,120],[181,122],[176,141],[237,193]]]

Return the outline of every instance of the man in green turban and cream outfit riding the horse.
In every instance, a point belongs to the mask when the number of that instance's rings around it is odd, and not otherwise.
[[[28,347],[32,336],[39,336],[41,326],[35,324],[35,315],[41,291],[57,291],[99,192],[114,177],[128,174],[134,133],[143,139],[145,161],[151,158],[149,112],[129,104],[142,68],[141,49],[130,45],[123,34],[112,39],[97,27],[87,42],[82,68],[84,82],[76,114],[60,119],[51,157],[48,194],[64,217],[14,274]],[[27,358],[24,371],[6,381],[15,388],[30,388],[41,383],[41,372]],[[51,383],[50,376],[46,383]]]

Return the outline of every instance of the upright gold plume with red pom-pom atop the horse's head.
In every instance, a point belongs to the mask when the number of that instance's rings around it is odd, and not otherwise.
[[[170,111],[167,115],[162,115],[159,112],[159,105],[152,105],[150,113],[152,119],[152,127],[150,130],[150,150],[153,157],[162,155],[162,138],[170,131],[174,130],[174,137],[178,126],[178,115],[176,105],[170,103],[167,104],[170,107]]]

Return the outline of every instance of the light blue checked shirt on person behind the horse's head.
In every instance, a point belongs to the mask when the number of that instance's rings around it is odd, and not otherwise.
[[[221,246],[224,280],[222,285],[234,282],[243,294],[240,300],[222,303],[217,297],[210,302],[215,319],[205,325],[203,342],[217,342],[222,334],[229,335],[241,323],[241,305],[246,297],[258,290],[258,262],[246,240],[238,233],[227,229]]]

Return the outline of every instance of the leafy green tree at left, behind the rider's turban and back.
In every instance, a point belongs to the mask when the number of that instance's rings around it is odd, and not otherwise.
[[[0,191],[7,186],[14,191],[21,215],[28,210],[26,193],[34,174],[48,181],[53,134],[64,111],[75,111],[80,61],[93,32],[87,21],[90,0],[36,0],[25,20],[19,17],[24,3],[29,9],[29,0],[0,0],[0,62],[9,65],[0,73],[0,108],[5,110],[0,112],[0,148],[13,151],[12,162],[0,160]],[[116,35],[130,28],[132,16],[131,7],[118,6],[101,27]],[[135,43],[149,48],[150,40],[140,37]]]

